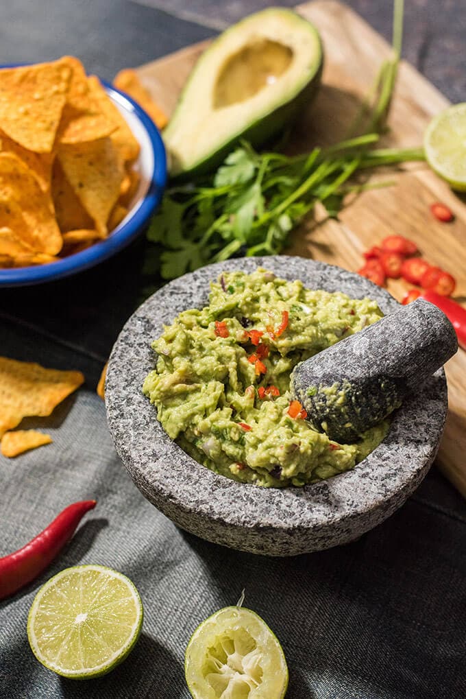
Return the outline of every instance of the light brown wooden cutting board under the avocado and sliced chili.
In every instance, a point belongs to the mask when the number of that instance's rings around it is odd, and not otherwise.
[[[293,150],[340,140],[372,84],[390,47],[347,6],[317,0],[298,6],[298,12],[321,32],[326,55],[319,96],[293,131]],[[171,113],[194,62],[208,42],[177,51],[138,69],[157,103]],[[411,65],[400,66],[389,124],[382,145],[421,145],[430,118],[448,101]],[[370,181],[392,182],[354,198],[340,220],[316,215],[293,237],[286,252],[337,264],[351,271],[362,264],[362,252],[384,236],[396,233],[414,240],[425,259],[456,275],[456,299],[466,301],[466,205],[425,164],[409,164],[374,173]],[[443,201],[456,214],[451,224],[433,219],[429,205]],[[390,280],[388,289],[400,299],[409,285]],[[466,497],[466,352],[462,349],[446,366],[449,417],[437,463]]]

